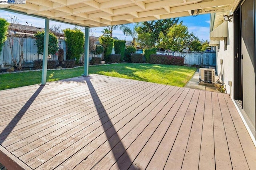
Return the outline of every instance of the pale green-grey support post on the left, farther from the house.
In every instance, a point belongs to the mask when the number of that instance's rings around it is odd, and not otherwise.
[[[43,55],[43,71],[42,71],[42,84],[46,84],[47,75],[47,56],[48,56],[48,44],[49,44],[49,19],[45,19],[44,27],[44,55]]]

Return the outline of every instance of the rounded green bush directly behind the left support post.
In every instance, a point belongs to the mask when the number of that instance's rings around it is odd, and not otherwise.
[[[44,32],[37,32],[35,35],[36,38],[36,46],[37,46],[37,53],[43,54],[44,53]],[[58,39],[53,33],[49,33],[49,44],[48,44],[48,55],[49,54],[56,54],[58,51]]]

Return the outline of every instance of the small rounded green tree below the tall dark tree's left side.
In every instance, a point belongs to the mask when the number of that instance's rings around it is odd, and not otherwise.
[[[154,38],[151,36],[150,33],[147,33],[147,32],[138,34],[137,42],[141,48],[154,47]]]

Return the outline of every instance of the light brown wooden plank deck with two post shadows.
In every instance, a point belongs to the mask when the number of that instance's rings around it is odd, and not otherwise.
[[[227,94],[103,75],[0,91],[10,170],[256,170]]]

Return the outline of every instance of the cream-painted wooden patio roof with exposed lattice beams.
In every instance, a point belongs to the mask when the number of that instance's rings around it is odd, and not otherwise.
[[[0,8],[86,27],[231,12],[240,0],[26,0]],[[221,18],[221,17],[220,17]],[[223,19],[223,17],[222,17]]]

